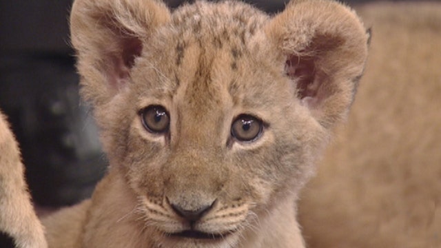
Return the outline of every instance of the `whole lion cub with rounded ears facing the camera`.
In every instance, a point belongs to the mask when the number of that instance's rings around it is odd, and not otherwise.
[[[304,247],[298,191],[367,59],[353,11],[78,0],[70,21],[110,167],[43,220],[50,247]]]

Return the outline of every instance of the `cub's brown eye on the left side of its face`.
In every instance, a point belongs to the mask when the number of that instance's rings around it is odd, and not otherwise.
[[[145,129],[152,133],[167,132],[170,126],[167,110],[159,105],[151,105],[141,110],[141,121]]]

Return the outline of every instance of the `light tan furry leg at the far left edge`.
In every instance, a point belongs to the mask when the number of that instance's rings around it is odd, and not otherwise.
[[[19,248],[48,247],[30,201],[19,146],[0,112],[0,231]]]

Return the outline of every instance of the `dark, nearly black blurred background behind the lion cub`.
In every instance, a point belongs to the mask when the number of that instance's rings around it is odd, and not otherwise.
[[[176,8],[183,1],[166,2]],[[287,1],[247,2],[278,12]],[[69,45],[71,4],[0,0],[0,107],[21,145],[34,202],[43,210],[90,196],[107,164],[89,107],[78,95]],[[6,239],[0,237],[0,247],[11,246]]]

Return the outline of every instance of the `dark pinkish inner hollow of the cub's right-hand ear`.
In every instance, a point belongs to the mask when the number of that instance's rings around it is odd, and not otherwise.
[[[310,100],[316,98],[320,82],[316,77],[314,57],[288,56],[285,63],[285,72],[296,83],[299,99],[307,98]]]

